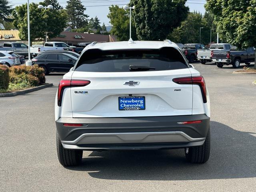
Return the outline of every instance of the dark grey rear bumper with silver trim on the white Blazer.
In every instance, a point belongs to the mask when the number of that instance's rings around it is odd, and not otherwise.
[[[177,122],[202,120],[197,124]],[[82,127],[64,126],[79,123]],[[208,132],[205,114],[129,118],[60,118],[56,121],[64,148],[80,150],[162,149],[200,146]]]

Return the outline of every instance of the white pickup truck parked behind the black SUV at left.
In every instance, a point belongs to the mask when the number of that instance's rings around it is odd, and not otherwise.
[[[46,50],[63,50],[64,48],[76,48],[74,46],[69,46],[68,44],[64,42],[45,42],[44,46],[34,46],[30,47],[30,54],[32,57],[35,57],[38,55],[39,52],[44,52]]]

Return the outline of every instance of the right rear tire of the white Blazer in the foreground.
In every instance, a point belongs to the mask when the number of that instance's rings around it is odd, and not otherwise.
[[[208,130],[206,139],[202,146],[188,148],[188,154],[186,153],[186,160],[190,163],[205,163],[210,157],[210,128]]]

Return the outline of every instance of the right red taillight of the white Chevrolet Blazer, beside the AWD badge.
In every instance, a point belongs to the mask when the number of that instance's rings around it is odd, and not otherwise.
[[[207,102],[207,100],[206,100],[206,84],[205,84],[204,78],[202,76],[174,78],[172,81],[177,84],[199,85],[200,89],[201,89],[203,101],[204,101],[204,103]]]

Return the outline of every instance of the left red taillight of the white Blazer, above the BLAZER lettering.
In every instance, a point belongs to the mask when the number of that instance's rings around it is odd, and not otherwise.
[[[84,87],[88,84],[90,84],[90,81],[88,80],[68,80],[68,79],[60,80],[60,83],[58,86],[58,106],[61,106],[62,94],[65,88]]]

